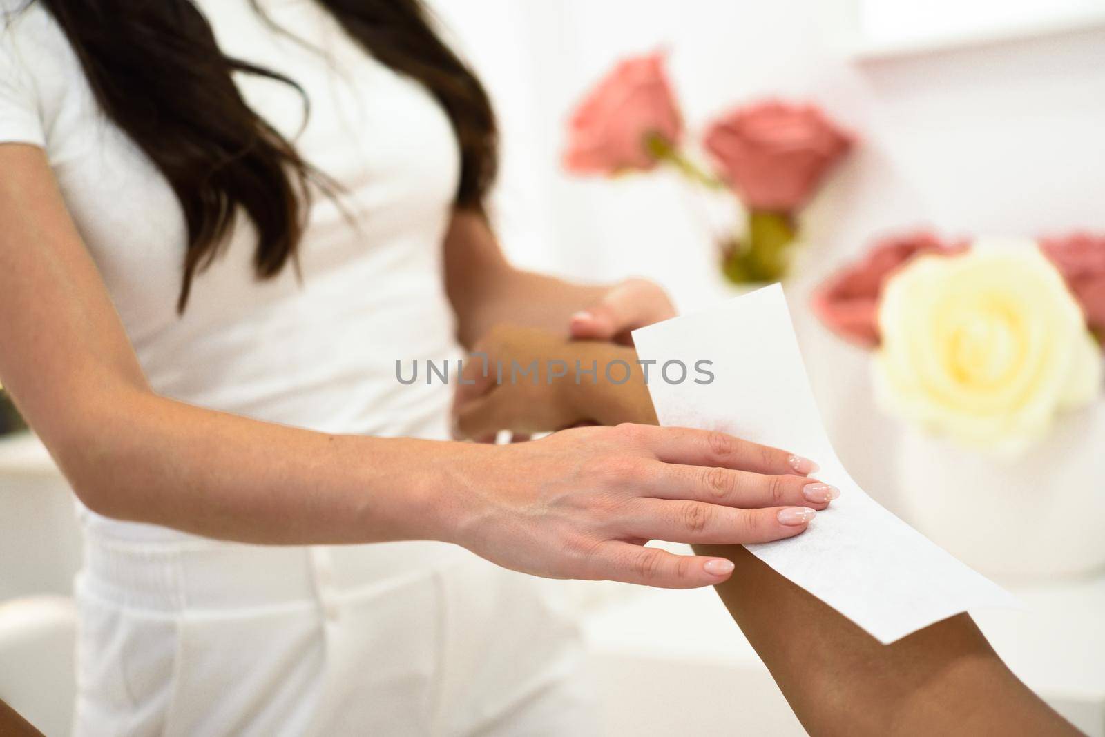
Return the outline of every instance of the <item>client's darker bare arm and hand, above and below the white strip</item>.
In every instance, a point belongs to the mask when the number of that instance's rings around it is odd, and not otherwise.
[[[505,362],[554,356],[632,364],[636,357],[631,348],[517,328],[493,331],[480,348]],[[482,388],[457,407],[460,427],[471,435],[656,421],[640,375],[623,385],[561,381]],[[883,645],[743,546],[694,549],[733,562],[733,576],[715,589],[812,735],[1080,734],[1009,671],[967,615]]]

